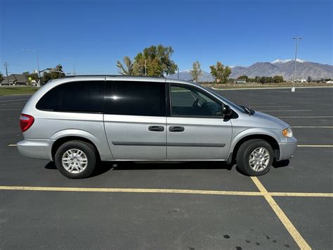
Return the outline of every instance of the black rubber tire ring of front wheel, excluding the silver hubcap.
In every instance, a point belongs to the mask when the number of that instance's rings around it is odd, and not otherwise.
[[[249,157],[255,149],[264,148],[268,151],[269,161],[266,168],[263,170],[255,171],[250,167]],[[259,176],[265,175],[270,170],[270,165],[273,163],[273,149],[268,142],[263,139],[250,139],[247,142],[244,142],[240,149],[237,151],[236,156],[237,167],[245,175],[249,176]]]

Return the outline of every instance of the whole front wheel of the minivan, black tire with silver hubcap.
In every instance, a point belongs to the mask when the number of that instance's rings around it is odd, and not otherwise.
[[[263,139],[250,139],[240,146],[236,161],[237,167],[245,175],[264,175],[273,163],[272,146]]]

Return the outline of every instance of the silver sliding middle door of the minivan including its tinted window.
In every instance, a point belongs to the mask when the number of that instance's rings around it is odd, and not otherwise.
[[[104,125],[113,157],[165,160],[165,80],[123,79],[105,82]]]

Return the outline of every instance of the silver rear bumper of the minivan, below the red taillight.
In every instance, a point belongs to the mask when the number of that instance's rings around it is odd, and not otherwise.
[[[28,158],[48,159],[52,161],[51,146],[53,141],[49,139],[25,139],[18,142],[18,151]]]

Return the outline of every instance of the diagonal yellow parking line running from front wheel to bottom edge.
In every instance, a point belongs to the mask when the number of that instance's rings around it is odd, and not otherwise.
[[[287,231],[289,234],[293,237],[294,241],[297,245],[299,245],[300,249],[311,249],[311,247],[306,243],[305,239],[301,236],[299,231],[296,230],[296,227],[292,225],[292,222],[287,218],[287,215],[282,211],[280,206],[274,201],[273,197],[267,192],[266,188],[263,187],[261,182],[258,180],[257,177],[251,177],[256,187],[258,187],[259,191],[263,194],[266,201],[270,205],[270,207],[273,209],[273,211],[278,215],[278,218],[282,222],[283,225],[285,225]]]

